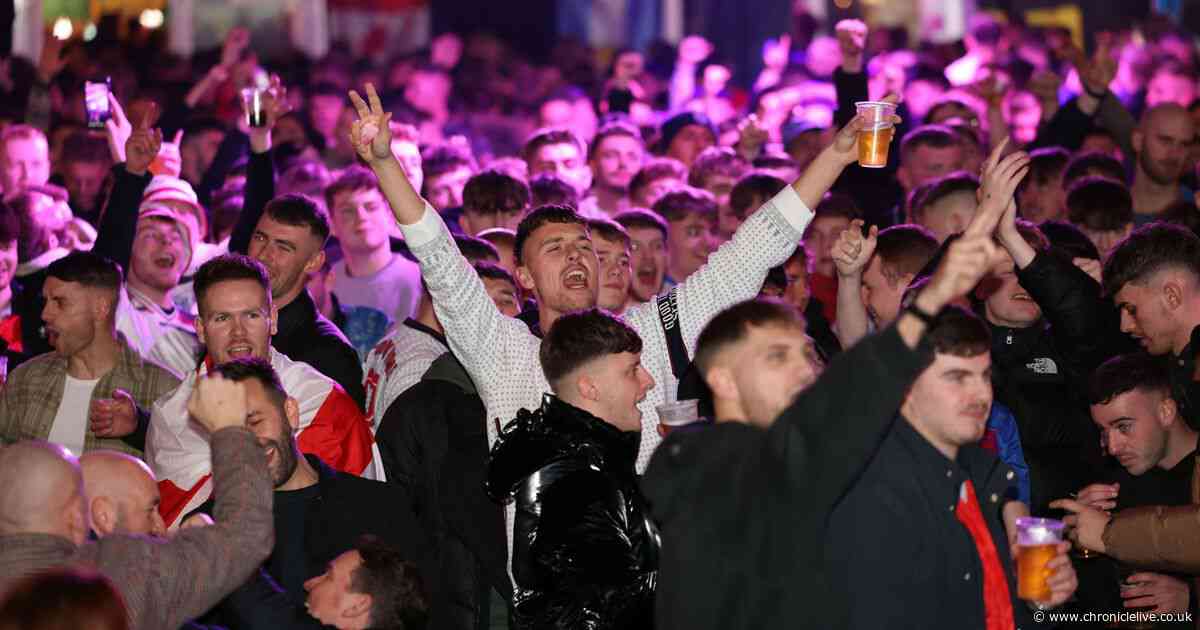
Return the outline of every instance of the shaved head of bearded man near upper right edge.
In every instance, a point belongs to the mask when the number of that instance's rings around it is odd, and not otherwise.
[[[1177,184],[1188,167],[1194,137],[1195,125],[1187,109],[1175,103],[1147,109],[1133,134],[1138,176],[1145,175],[1159,186]]]

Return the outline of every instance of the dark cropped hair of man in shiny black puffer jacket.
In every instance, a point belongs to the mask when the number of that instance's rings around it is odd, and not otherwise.
[[[620,353],[642,352],[642,337],[612,313],[588,308],[566,313],[551,324],[538,359],[546,380],[558,391],[563,378],[583,365]]]

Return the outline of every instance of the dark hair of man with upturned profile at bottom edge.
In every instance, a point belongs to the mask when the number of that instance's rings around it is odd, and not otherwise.
[[[430,616],[430,595],[416,564],[379,539],[366,535],[354,544],[361,564],[350,575],[354,593],[371,595],[370,628],[418,630]]]

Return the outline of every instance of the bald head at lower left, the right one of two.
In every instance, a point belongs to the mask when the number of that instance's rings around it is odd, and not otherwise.
[[[88,514],[96,535],[155,535],[164,532],[158,516],[158,485],[142,460],[116,451],[79,457]]]

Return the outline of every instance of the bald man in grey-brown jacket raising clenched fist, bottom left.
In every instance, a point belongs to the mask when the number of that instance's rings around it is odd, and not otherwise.
[[[200,378],[187,412],[212,444],[216,524],[168,540],[108,535],[88,542],[79,463],[61,446],[0,449],[0,590],[36,571],[92,566],[118,584],[132,628],[179,628],[212,607],[257,568],[274,544],[266,460],[244,427],[246,392]]]

